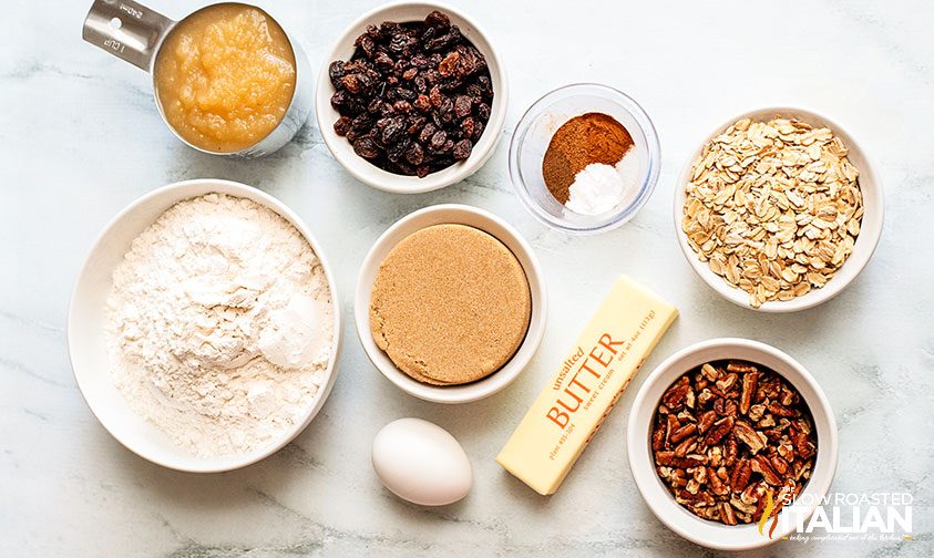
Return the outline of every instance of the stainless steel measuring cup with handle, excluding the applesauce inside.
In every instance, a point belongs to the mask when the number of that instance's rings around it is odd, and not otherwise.
[[[275,18],[266,13],[261,8],[255,6],[240,4],[239,2],[222,3],[249,6],[250,8],[263,11],[266,17],[276,21]],[[197,13],[197,11],[194,13]],[[158,56],[158,50],[162,48],[165,38],[172,33],[176,23],[178,21],[166,18],[155,10],[151,10],[132,0],[94,0],[91,11],[88,12],[88,17],[84,19],[82,37],[91,44],[148,72],[153,78],[153,92],[155,92],[156,83],[153,69]],[[279,27],[285,31],[281,24]],[[292,91],[291,103],[285,116],[283,116],[281,122],[279,122],[273,132],[252,146],[238,152],[217,153],[203,149],[196,145],[192,145],[168,124],[162,103],[158,101],[158,95],[155,95],[158,113],[165,125],[168,126],[168,130],[172,130],[172,133],[175,134],[175,137],[202,153],[232,157],[259,157],[268,155],[287,144],[301,125],[305,124],[311,112],[311,87],[314,81],[311,80],[311,69],[305,51],[301,50],[298,42],[287,31],[285,33],[295,55],[295,91]]]

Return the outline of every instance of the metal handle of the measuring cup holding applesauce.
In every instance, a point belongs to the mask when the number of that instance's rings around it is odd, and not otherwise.
[[[81,37],[148,72],[156,46],[174,24],[175,21],[132,0],[94,0]]]

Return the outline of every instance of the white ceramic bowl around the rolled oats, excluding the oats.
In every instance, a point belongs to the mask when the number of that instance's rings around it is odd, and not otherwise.
[[[741,118],[761,121],[770,120],[774,116],[798,118],[814,126],[825,126],[832,130],[833,133],[843,141],[846,147],[850,148],[850,163],[852,163],[860,172],[860,189],[863,194],[864,215],[862,226],[860,228],[860,236],[856,237],[853,254],[851,254],[846,261],[843,262],[843,266],[837,270],[833,278],[820,289],[811,289],[811,291],[803,297],[797,297],[788,301],[769,301],[763,303],[761,307],[753,309],[761,312],[794,312],[827,302],[845,289],[846,286],[850,285],[858,275],[860,275],[860,271],[863,270],[866,264],[869,264],[869,260],[879,244],[879,237],[882,235],[882,219],[883,214],[885,213],[885,199],[882,193],[882,183],[879,180],[875,167],[870,162],[863,148],[859,143],[856,143],[855,138],[837,122],[823,116],[822,114],[804,108],[773,106],[740,114],[717,126],[691,153],[681,169],[680,176],[678,176],[678,184],[675,188],[675,234],[678,236],[678,244],[680,245],[681,251],[685,254],[685,258],[687,258],[688,264],[690,264],[695,272],[700,276],[707,285],[730,302],[745,308],[752,308],[749,306],[748,292],[742,289],[731,287],[721,277],[711,271],[706,262],[700,261],[697,258],[694,249],[691,249],[690,245],[688,245],[687,235],[685,235],[685,231],[681,229],[681,217],[684,216],[685,205],[685,186],[687,186],[690,182],[690,170],[694,161],[698,155],[700,155],[704,146],[710,140],[723,133],[725,130]]]

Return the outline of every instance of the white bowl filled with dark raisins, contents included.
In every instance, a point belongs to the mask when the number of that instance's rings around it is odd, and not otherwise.
[[[397,2],[365,13],[337,41],[316,112],[325,144],[351,175],[417,194],[483,166],[506,97],[502,63],[473,20],[448,6]]]

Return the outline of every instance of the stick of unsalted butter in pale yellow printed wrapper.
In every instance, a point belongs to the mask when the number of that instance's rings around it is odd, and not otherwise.
[[[617,279],[496,462],[538,494],[554,494],[677,316],[629,278]]]

